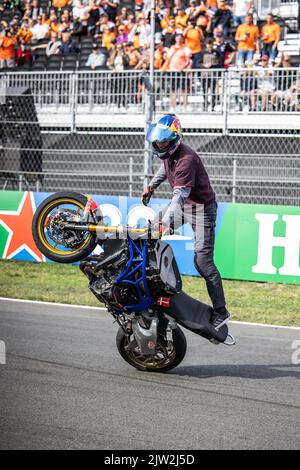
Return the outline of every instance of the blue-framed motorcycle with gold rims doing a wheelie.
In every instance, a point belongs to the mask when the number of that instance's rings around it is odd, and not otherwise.
[[[187,349],[180,327],[213,344],[235,344],[227,324],[212,326],[213,308],[182,291],[172,248],[151,223],[107,226],[92,198],[60,192],[37,208],[32,233],[47,258],[80,261],[91,292],[119,325],[120,355],[136,369],[166,372],[178,366]],[[93,253],[97,245],[100,254]]]

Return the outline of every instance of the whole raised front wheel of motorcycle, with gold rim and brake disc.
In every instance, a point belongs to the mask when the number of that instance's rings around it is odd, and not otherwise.
[[[73,263],[86,258],[96,247],[96,236],[86,231],[63,230],[65,223],[80,224],[86,196],[60,192],[37,208],[32,235],[39,250],[53,261]]]

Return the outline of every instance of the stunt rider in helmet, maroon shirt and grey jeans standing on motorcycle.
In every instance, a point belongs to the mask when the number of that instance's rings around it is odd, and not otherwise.
[[[195,233],[194,264],[206,281],[214,308],[212,324],[216,330],[228,322],[222,279],[214,263],[216,195],[200,157],[182,143],[178,117],[167,114],[152,123],[147,132],[154,154],[163,162],[142,193],[146,205],[154,190],[166,179],[173,189],[169,206],[163,211],[161,223],[166,232],[173,224],[190,223]],[[157,222],[156,222],[157,223]],[[175,227],[175,228],[176,228]]]

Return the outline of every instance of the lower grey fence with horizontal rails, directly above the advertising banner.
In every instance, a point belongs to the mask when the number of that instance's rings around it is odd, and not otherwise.
[[[219,201],[299,205],[300,141],[267,135],[189,134]],[[2,151],[0,189],[72,189],[107,195],[139,196],[144,183],[144,134],[41,134],[41,148]],[[148,177],[158,169],[153,159]],[[169,197],[164,183],[159,197]]]

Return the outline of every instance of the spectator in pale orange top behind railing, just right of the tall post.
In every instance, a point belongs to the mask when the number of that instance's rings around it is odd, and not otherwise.
[[[182,92],[183,106],[187,106],[187,92],[188,92],[188,78],[185,70],[188,70],[191,65],[192,51],[186,47],[184,37],[182,34],[176,34],[175,45],[172,46],[168,52],[168,59],[165,62],[162,70],[171,72],[171,110],[175,110],[177,102],[177,92],[180,95]]]

